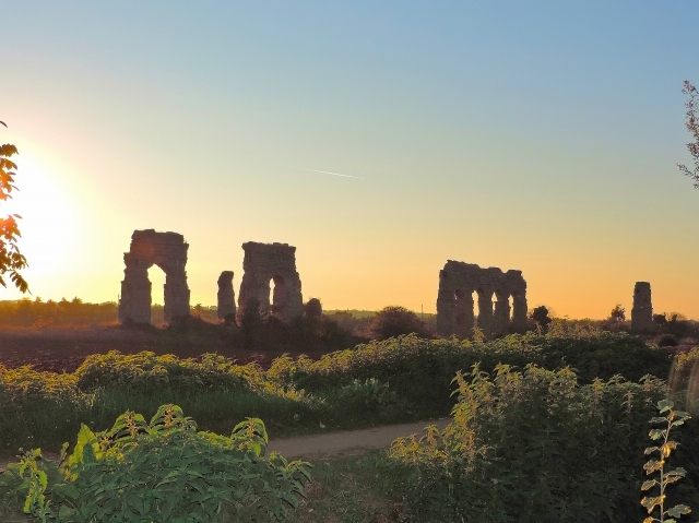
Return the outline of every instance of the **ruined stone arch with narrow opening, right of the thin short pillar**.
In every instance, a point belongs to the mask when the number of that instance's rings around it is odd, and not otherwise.
[[[301,281],[296,272],[296,247],[287,243],[242,243],[242,281],[238,296],[238,311],[245,309],[251,298],[257,298],[263,309],[289,320],[304,313]],[[270,282],[274,294],[270,304]]]

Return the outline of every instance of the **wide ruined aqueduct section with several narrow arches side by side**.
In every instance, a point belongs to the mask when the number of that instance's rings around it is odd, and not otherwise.
[[[474,290],[478,305],[476,324],[486,338],[526,328],[526,282],[521,271],[502,273],[498,268],[482,269],[473,263],[448,260],[439,272],[437,332],[440,335],[466,337],[471,334],[464,325],[469,322],[466,318],[471,318],[473,326],[475,304],[471,294]]]

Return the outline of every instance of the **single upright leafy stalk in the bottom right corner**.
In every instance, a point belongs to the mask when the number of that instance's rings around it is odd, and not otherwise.
[[[691,509],[686,504],[676,504],[672,509],[665,510],[665,490],[670,484],[676,483],[687,474],[683,467],[678,466],[677,468],[666,468],[666,461],[670,457],[670,454],[674,449],[677,448],[677,442],[672,441],[670,439],[670,431],[673,427],[679,427],[684,425],[684,423],[690,418],[689,414],[675,411],[673,408],[674,403],[670,400],[663,400],[657,403],[657,409],[660,414],[667,413],[665,416],[654,417],[651,419],[651,424],[663,424],[663,428],[654,428],[651,429],[649,436],[653,441],[661,440],[660,447],[649,447],[645,449],[645,454],[660,454],[660,460],[651,459],[643,465],[647,475],[657,474],[657,479],[649,479],[643,482],[641,486],[641,490],[650,490],[654,487],[659,489],[657,496],[653,497],[644,497],[641,500],[641,504],[648,509],[648,513],[650,514],[643,523],[675,523],[675,518],[680,518],[684,514],[688,514],[691,512]],[[660,519],[653,518],[653,512],[655,509],[660,510]],[[666,519],[667,518],[667,519]]]

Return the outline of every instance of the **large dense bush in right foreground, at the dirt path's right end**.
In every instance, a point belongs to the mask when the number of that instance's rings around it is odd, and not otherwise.
[[[396,440],[396,477],[417,521],[637,522],[643,449],[662,380],[617,377],[579,385],[569,369],[474,367],[457,376],[452,423]],[[687,424],[677,462],[694,480],[679,500],[697,502],[699,430]]]

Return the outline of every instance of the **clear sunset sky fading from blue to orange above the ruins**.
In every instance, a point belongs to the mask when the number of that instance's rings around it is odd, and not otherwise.
[[[699,318],[699,191],[676,166],[695,0],[0,8],[20,152],[0,215],[23,216],[32,299],[116,301],[154,228],[190,246],[192,306],[224,270],[237,296],[244,242],[279,241],[325,309],[434,312],[458,260],[521,270],[559,317],[630,312],[648,281],[655,312]]]

